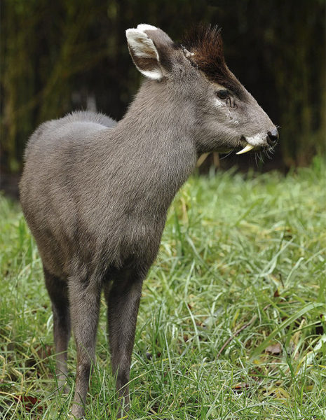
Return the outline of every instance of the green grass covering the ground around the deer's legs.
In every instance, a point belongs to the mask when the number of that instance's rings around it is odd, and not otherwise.
[[[186,183],[144,283],[130,419],[326,419],[325,191],[321,160]],[[0,418],[67,419],[39,254],[0,200]],[[118,418],[105,331],[103,300],[87,419]],[[72,340],[72,386],[75,363]]]

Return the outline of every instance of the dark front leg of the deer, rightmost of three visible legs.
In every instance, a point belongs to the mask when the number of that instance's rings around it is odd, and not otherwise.
[[[116,375],[116,390],[121,398],[121,405],[128,409],[129,374],[131,353],[135,340],[142,281],[146,273],[142,270],[125,270],[114,276],[114,281],[104,287],[107,300],[107,322],[111,367]]]

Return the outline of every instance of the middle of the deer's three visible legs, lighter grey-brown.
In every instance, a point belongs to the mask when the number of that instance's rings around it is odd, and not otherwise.
[[[90,370],[95,363],[95,344],[100,311],[100,281],[90,276],[69,278],[69,301],[72,330],[77,348],[77,369],[72,414],[81,418],[85,413]]]

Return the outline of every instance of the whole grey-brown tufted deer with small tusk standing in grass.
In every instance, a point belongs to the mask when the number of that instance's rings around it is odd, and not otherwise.
[[[278,131],[229,71],[219,30],[182,44],[161,29],[126,31],[146,76],[124,118],[76,112],[29,139],[20,200],[36,239],[53,309],[58,384],[67,376],[70,325],[77,347],[72,414],[84,414],[104,289],[111,367],[128,406],[142,282],[177,190],[210,151],[269,150]]]

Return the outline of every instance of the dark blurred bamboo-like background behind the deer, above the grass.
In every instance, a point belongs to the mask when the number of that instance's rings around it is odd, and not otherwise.
[[[325,0],[1,1],[1,186],[17,195],[26,141],[74,109],[120,119],[140,85],[125,42],[139,23],[179,41],[198,22],[222,27],[229,68],[280,128],[272,160],[210,155],[239,170],[309,165],[325,153]]]

